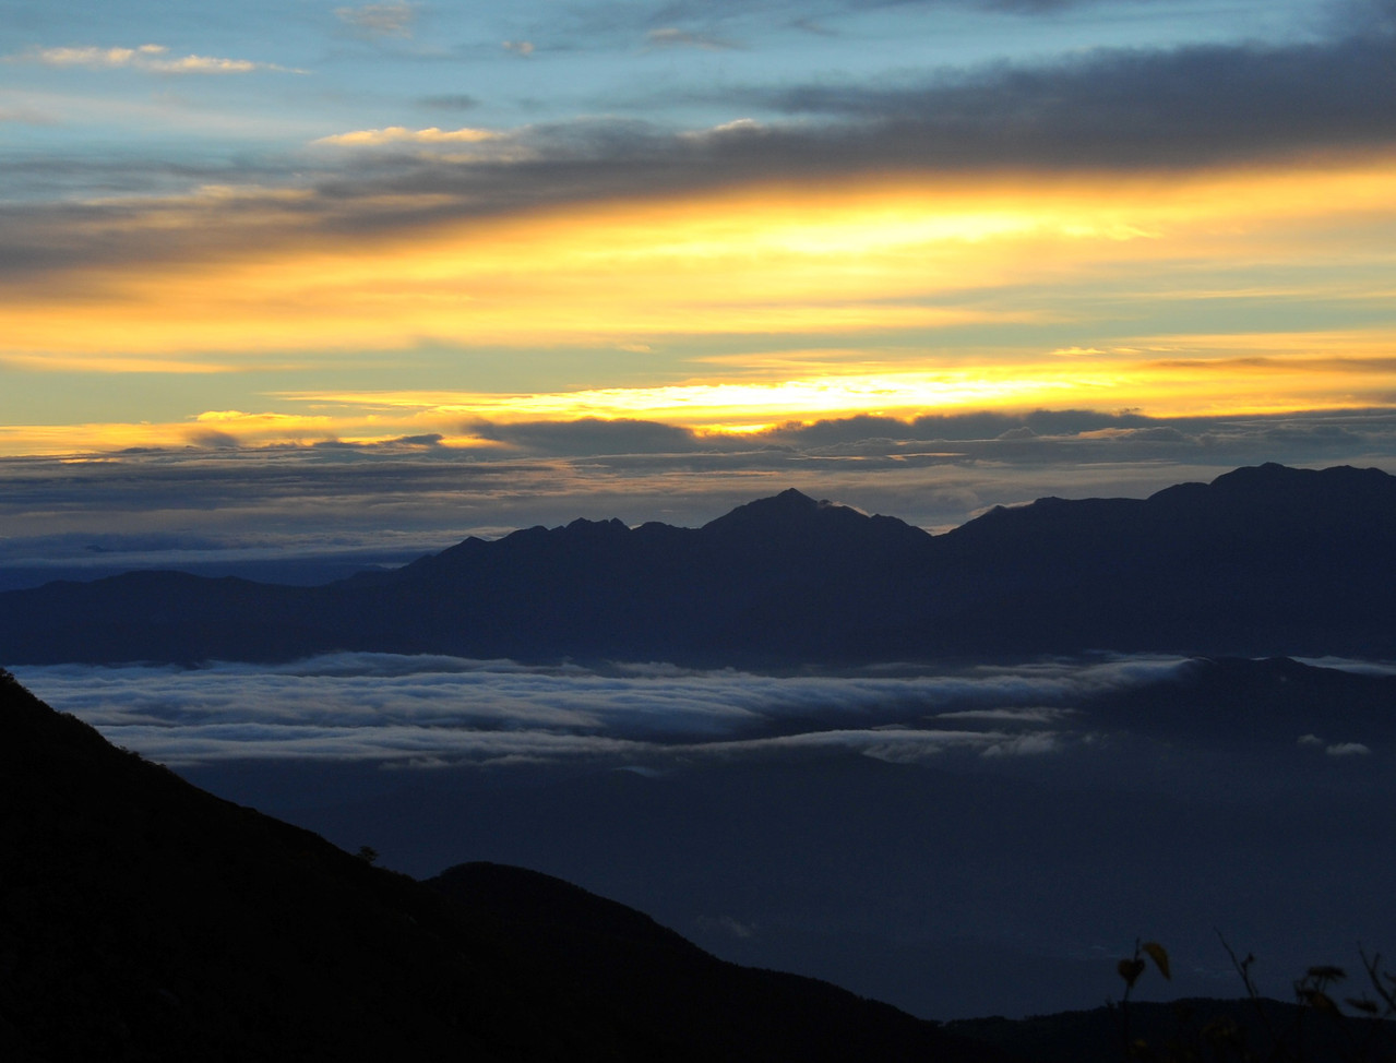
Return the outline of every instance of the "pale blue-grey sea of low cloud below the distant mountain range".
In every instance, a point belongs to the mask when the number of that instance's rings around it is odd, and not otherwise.
[[[1081,698],[1180,667],[1148,658],[773,677],[339,653],[275,667],[53,665],[15,675],[114,744],[176,767],[260,759],[419,767],[817,749],[896,763],[956,751],[1044,755],[1079,741]]]

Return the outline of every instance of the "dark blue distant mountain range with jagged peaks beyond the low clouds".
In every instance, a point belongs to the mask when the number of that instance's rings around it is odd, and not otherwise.
[[[1389,656],[1392,557],[1396,477],[1376,469],[1041,498],[942,536],[792,490],[701,529],[575,520],[320,587],[135,572],[8,591],[0,661]]]

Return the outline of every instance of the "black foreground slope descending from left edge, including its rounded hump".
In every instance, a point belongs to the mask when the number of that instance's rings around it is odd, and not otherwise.
[[[437,889],[219,801],[0,672],[7,1060],[984,1059],[554,879]]]

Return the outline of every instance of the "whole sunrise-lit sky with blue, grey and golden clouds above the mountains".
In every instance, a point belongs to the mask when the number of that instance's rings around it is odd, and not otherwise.
[[[0,566],[1396,470],[1392,0],[0,27]]]

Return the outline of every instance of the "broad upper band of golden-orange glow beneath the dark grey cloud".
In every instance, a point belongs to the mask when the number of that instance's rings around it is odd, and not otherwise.
[[[186,352],[614,345],[1032,321],[965,296],[1121,271],[1159,286],[1153,271],[1167,264],[1241,268],[1298,254],[1316,227],[1336,233],[1329,254],[1385,258],[1361,219],[1389,216],[1393,181],[1390,162],[1168,181],[905,177],[575,206],[373,239],[311,237],[295,215],[278,213],[288,197],[276,193],[264,204],[260,248],[246,236],[221,247],[216,209],[188,204],[159,223],[205,225],[205,261],[35,280],[0,303],[0,335],[10,357],[110,354],[112,371],[128,371],[128,359]]]

